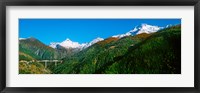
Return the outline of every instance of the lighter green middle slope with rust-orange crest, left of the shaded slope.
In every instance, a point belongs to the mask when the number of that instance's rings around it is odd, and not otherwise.
[[[71,58],[66,58],[64,64],[55,69],[55,73],[103,73],[114,59],[123,56],[128,48],[145,40],[150,34],[127,36],[121,39],[108,38],[77,53]]]

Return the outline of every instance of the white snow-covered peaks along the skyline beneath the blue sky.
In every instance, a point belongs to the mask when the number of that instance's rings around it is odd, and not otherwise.
[[[141,24],[140,26],[136,26],[133,30],[130,30],[124,34],[119,34],[119,35],[114,35],[112,37],[116,37],[116,38],[122,38],[125,36],[134,36],[137,34],[142,34],[142,33],[147,33],[147,34],[151,34],[151,33],[155,33],[161,29],[164,28],[168,28],[171,27],[172,25],[167,25],[166,27],[158,27],[158,26],[153,26],[153,25],[148,25],[148,24]],[[51,42],[50,43],[50,47],[52,48],[58,48],[60,46],[64,47],[64,48],[78,48],[80,50],[88,48],[89,46],[104,40],[103,38],[97,37],[96,39],[92,40],[89,43],[82,43],[79,44],[78,42],[73,42],[71,41],[69,38],[67,38],[66,40],[64,40],[63,42]]]

